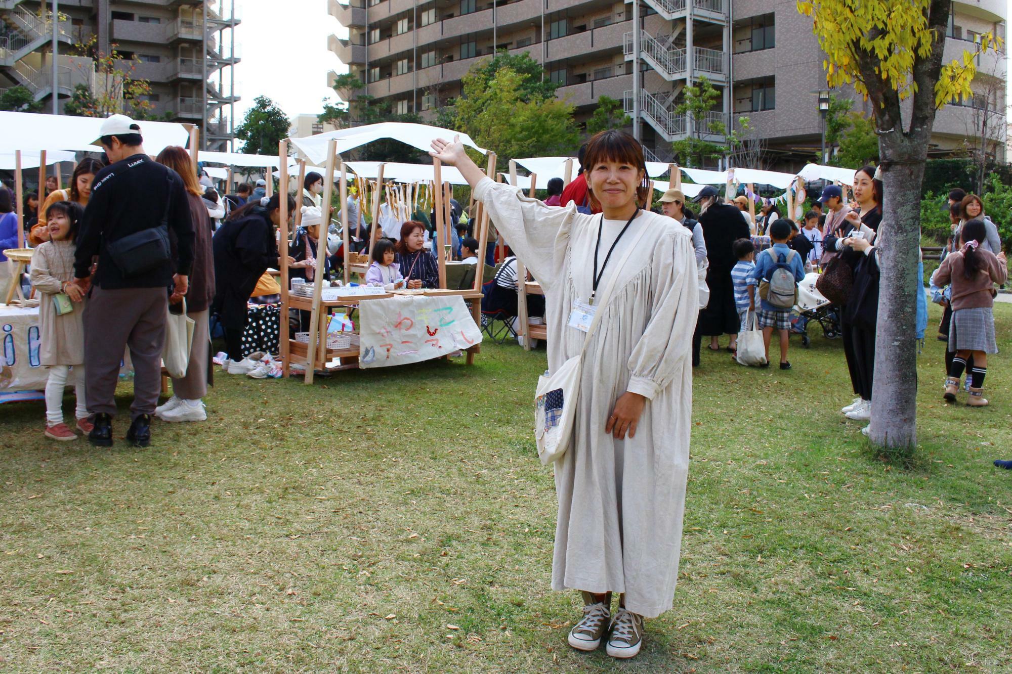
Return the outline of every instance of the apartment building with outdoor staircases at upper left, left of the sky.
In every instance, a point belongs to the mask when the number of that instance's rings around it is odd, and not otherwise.
[[[28,88],[59,108],[78,84],[100,90],[90,60],[71,57],[93,37],[102,54],[113,47],[124,70],[151,82],[151,114],[199,124],[206,150],[231,150],[239,91],[236,0],[63,0],[58,8],[57,77],[53,76],[51,2],[0,0],[0,89]]]

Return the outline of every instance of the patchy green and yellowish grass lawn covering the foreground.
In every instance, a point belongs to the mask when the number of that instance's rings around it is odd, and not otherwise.
[[[543,349],[220,375],[206,423],[159,422],[144,450],[0,408],[0,670],[1008,672],[1012,306],[985,410],[941,400],[935,310],[909,471],[839,414],[818,327],[786,372],[704,350],[675,608],[624,664],[572,651],[577,593],[549,589]]]

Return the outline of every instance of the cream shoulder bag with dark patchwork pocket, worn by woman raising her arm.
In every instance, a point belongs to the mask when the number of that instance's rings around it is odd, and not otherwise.
[[[618,262],[618,266],[615,267],[616,269],[625,266],[632,251],[639,248],[648,229],[650,228],[645,226],[640,230],[632,245],[628,247]],[[587,330],[587,336],[583,340],[583,348],[580,349],[580,353],[566,360],[555,372],[545,371],[544,374],[537,377],[537,389],[534,391],[534,439],[537,442],[537,455],[540,457],[542,466],[547,466],[549,462],[562,458],[573,439],[573,422],[580,401],[583,354],[587,351],[590,338],[597,330],[601,316],[604,315],[604,308],[611,299],[611,290],[614,288],[618,275],[619,271],[615,271],[611,275],[607,288],[601,294],[601,302],[597,305],[597,311],[594,312],[594,320],[591,321],[590,328]],[[564,327],[564,329],[566,328]]]

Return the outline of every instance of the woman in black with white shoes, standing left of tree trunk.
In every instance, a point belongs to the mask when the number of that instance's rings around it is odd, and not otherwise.
[[[840,253],[854,275],[851,298],[840,311],[840,333],[850,383],[857,398],[841,412],[848,419],[871,418],[871,385],[875,363],[875,324],[878,320],[878,261],[871,242],[851,238],[861,225],[877,233],[882,220],[882,183],[875,168],[865,166],[854,174],[854,198],[858,207],[847,215],[843,226],[826,237],[824,248]]]

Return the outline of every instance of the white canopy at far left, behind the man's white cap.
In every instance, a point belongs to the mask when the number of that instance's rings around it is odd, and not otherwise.
[[[36,114],[34,112],[0,112],[0,153],[13,154],[15,150],[76,150],[102,152],[92,145],[98,140],[102,122],[98,117]],[[169,147],[186,147],[189,125],[170,121],[138,121],[144,149],[152,155]]]

